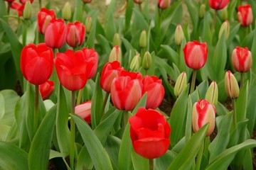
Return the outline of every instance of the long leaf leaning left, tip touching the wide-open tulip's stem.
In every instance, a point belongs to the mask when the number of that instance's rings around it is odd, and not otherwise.
[[[107,155],[106,150],[102,147],[90,126],[78,115],[71,115],[71,117],[78,127],[83,142],[85,142],[85,146],[90,154],[95,169],[112,169],[110,157]]]

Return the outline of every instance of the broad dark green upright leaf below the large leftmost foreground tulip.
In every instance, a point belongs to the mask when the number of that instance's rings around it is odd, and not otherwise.
[[[56,119],[56,107],[50,109],[33,137],[28,152],[29,169],[47,169]]]

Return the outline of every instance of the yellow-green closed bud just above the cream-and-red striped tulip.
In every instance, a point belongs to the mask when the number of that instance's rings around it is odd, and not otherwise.
[[[217,106],[218,103],[218,86],[215,81],[212,81],[208,90],[206,91],[206,100],[209,103]]]

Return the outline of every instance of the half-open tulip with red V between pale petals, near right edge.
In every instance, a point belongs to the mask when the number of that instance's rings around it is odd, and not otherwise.
[[[232,53],[233,67],[238,72],[248,72],[252,67],[252,54],[247,47],[235,47]]]

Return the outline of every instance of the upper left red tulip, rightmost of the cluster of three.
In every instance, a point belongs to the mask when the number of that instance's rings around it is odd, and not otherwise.
[[[85,40],[85,25],[79,21],[68,23],[66,41],[70,47],[82,45]]]

